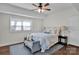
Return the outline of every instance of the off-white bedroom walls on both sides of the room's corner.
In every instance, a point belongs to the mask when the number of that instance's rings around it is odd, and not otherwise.
[[[28,34],[28,32],[15,32],[15,33],[10,32],[9,28],[10,16],[11,15],[0,14],[0,46],[23,42],[24,37]],[[44,20],[40,19],[37,20],[34,18],[26,18],[26,17],[20,17],[20,18],[29,19],[32,21],[33,32],[41,31],[41,28],[43,28],[43,26],[54,27],[58,25],[67,25],[67,26],[74,25],[73,28],[76,29],[79,28],[79,26],[77,26],[79,24],[78,21],[79,13],[75,9],[68,9],[59,13],[58,12],[54,13],[46,17]],[[75,19],[77,20],[74,21]],[[75,39],[68,39],[69,40],[68,43],[79,46],[79,38],[78,38],[79,33],[78,32],[74,33],[71,34],[73,34]]]

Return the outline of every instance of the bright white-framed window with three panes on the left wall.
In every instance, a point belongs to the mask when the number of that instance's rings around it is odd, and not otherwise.
[[[27,31],[31,30],[31,22],[29,21],[10,21],[11,31]]]

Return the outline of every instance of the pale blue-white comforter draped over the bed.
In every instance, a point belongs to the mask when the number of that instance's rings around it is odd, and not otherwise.
[[[29,37],[32,37],[34,41],[40,41],[41,52],[44,52],[46,49],[50,48],[50,42],[53,40],[52,44],[57,42],[57,36],[53,34],[46,33],[31,33]],[[33,44],[29,44],[32,48]]]

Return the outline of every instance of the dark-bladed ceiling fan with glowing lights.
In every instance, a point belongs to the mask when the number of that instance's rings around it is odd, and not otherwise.
[[[34,10],[37,10],[39,13],[51,10],[51,9],[48,8],[49,3],[46,3],[46,4],[39,3],[39,5],[36,5],[36,4],[32,4],[32,5],[37,8],[37,9],[34,9]]]

